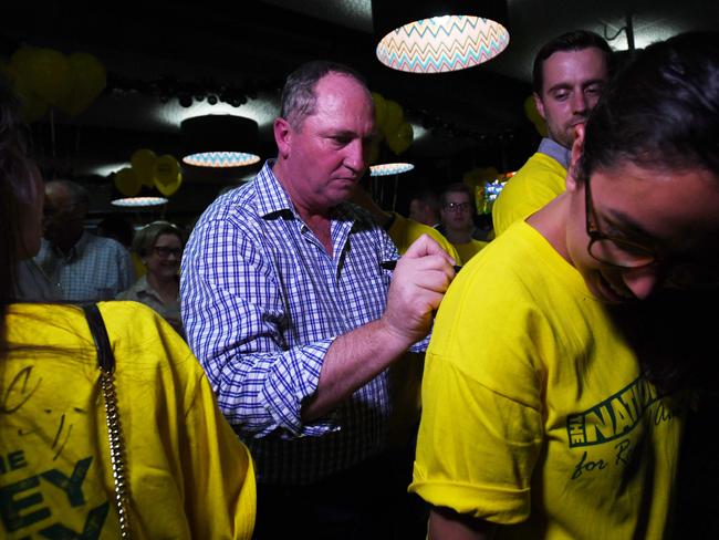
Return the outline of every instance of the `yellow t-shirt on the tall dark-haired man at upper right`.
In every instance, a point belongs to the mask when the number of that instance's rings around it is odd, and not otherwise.
[[[494,237],[527,219],[566,188],[566,169],[553,157],[535,153],[512,176],[492,205]]]

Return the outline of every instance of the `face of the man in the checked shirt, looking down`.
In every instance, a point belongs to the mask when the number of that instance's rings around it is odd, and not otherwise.
[[[300,211],[324,214],[348,200],[367,167],[374,138],[369,92],[350,76],[330,73],[315,85],[314,114],[293,127],[274,124],[278,174]]]

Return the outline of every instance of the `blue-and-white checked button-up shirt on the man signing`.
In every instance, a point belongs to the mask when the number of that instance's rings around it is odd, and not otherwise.
[[[250,446],[258,480],[310,484],[384,449],[387,372],[331,415],[303,423],[333,340],[378,319],[397,258],[364,210],[333,210],[330,257],[268,162],[198,221],[181,267],[188,342],[223,414]]]

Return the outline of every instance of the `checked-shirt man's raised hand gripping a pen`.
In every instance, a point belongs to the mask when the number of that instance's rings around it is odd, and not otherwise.
[[[386,331],[407,346],[427,335],[434,312],[455,278],[455,260],[429,236],[419,237],[395,268],[387,307]]]

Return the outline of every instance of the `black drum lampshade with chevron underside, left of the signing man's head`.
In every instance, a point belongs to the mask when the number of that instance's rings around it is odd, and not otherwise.
[[[257,122],[243,116],[209,114],[184,120],[183,162],[196,167],[242,167],[260,160]]]

